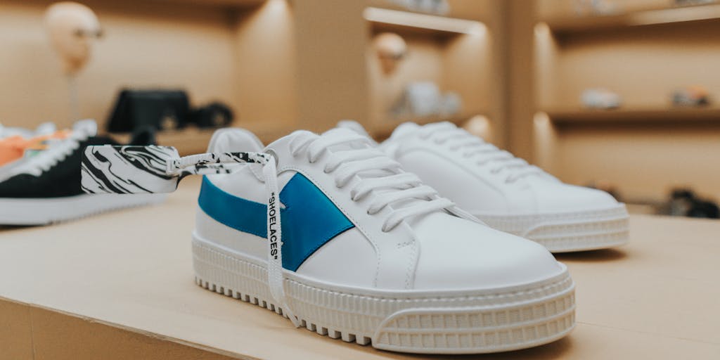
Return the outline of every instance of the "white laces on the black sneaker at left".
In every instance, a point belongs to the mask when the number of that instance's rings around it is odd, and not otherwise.
[[[15,174],[30,174],[41,176],[45,171],[65,160],[73,151],[80,147],[80,143],[87,140],[94,132],[84,129],[73,130],[71,135],[64,139],[50,139],[48,150],[34,156],[31,161],[19,166]]]

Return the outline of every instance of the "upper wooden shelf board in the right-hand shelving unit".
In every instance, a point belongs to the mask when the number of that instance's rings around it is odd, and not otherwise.
[[[666,7],[639,12],[608,15],[566,16],[541,19],[555,33],[613,30],[681,22],[708,22],[720,20],[720,4]]]

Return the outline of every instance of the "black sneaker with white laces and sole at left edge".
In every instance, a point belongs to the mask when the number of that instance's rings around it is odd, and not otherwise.
[[[94,121],[77,122],[66,140],[13,168],[12,176],[0,182],[0,225],[42,225],[163,201],[163,194],[90,196],[82,191],[81,157],[85,147],[118,145],[96,132]],[[153,130],[146,128],[135,133],[130,145],[154,143]]]

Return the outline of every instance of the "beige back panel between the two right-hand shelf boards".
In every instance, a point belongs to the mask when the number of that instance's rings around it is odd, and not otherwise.
[[[629,109],[667,107],[672,90],[688,85],[720,94],[718,23],[566,35],[559,47],[551,107],[580,106],[590,87],[615,91]]]

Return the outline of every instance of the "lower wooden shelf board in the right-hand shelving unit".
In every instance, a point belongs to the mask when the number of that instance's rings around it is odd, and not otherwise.
[[[697,122],[719,121],[720,107],[665,109],[548,109],[552,122]]]

